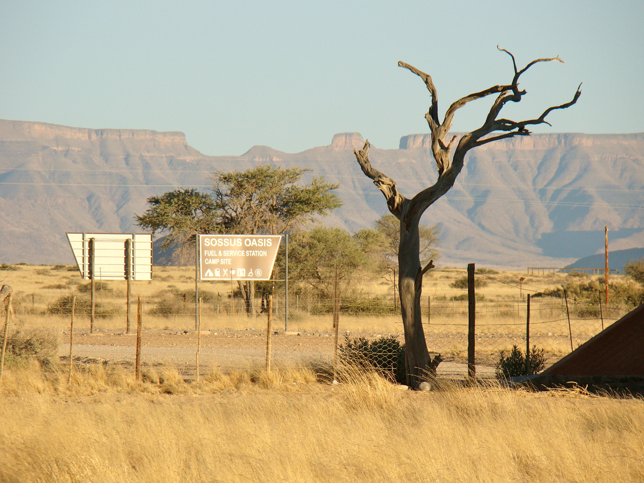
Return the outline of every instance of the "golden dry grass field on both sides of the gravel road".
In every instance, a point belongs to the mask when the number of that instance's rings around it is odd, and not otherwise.
[[[18,268],[2,272],[3,283],[14,287],[12,327],[53,331],[66,342],[69,317],[47,309],[61,296],[82,295],[76,290],[83,283],[79,275],[64,267]],[[443,343],[453,357],[464,350],[460,337],[466,314],[462,302],[451,300],[464,291],[450,283],[462,274],[435,270],[425,281],[426,296],[435,304],[426,324],[428,343]],[[489,350],[497,354],[500,346],[520,341],[525,304],[508,284],[523,274],[491,276],[497,282],[480,289],[486,301],[478,304],[477,343],[496,334],[497,346]],[[189,268],[159,268],[150,283],[135,283],[135,296],[146,298],[144,348],[194,347],[190,307],[172,316],[150,313],[167,290],[193,289],[192,277]],[[551,288],[565,277],[529,276],[525,283]],[[230,314],[229,284],[201,287],[219,294],[204,307],[202,328],[211,331],[202,337],[205,347],[263,346],[261,330],[244,330],[261,328],[263,316]],[[125,283],[109,283],[99,292],[97,301],[111,314],[97,318],[93,336],[88,318],[79,316],[77,343],[133,344],[133,336],[122,334],[124,289]],[[388,282],[366,281],[363,289],[391,296]],[[179,305],[183,310],[181,300]],[[308,314],[306,301],[298,299],[292,313],[290,328],[303,336],[276,337],[277,349],[329,346],[329,315]],[[399,334],[397,317],[343,315],[341,327],[369,337]],[[561,336],[547,335],[555,330],[547,324],[561,317],[561,307],[541,301],[535,308],[535,333],[559,343]],[[596,319],[575,320],[586,324],[578,327],[579,340],[601,328]],[[560,350],[565,353],[565,344]],[[147,365],[143,381],[137,382],[131,367],[106,361],[77,364],[68,384],[67,368],[66,361],[53,357],[41,364],[25,359],[5,369],[0,482],[644,480],[641,399],[597,397],[582,389],[532,393],[492,382],[464,387],[447,379],[432,392],[412,392],[370,372],[343,372],[340,384],[330,384],[328,369],[314,365],[283,366],[270,373],[213,366],[202,370],[199,383],[172,365]]]

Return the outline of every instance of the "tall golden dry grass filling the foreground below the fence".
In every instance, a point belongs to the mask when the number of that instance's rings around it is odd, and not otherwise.
[[[168,395],[102,366],[79,374],[71,388],[36,366],[3,379],[0,482],[644,480],[640,400],[402,392],[374,375],[293,384],[301,370],[213,374],[218,388]]]

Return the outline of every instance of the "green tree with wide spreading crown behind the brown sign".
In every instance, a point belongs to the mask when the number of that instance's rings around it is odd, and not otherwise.
[[[149,209],[136,216],[143,229],[166,232],[164,247],[178,250],[187,261],[194,252],[196,234],[282,234],[326,216],[341,206],[337,184],[315,176],[310,184],[299,184],[309,169],[260,165],[245,171],[215,171],[212,193],[177,189],[152,196]],[[255,283],[238,281],[247,314],[255,313]]]

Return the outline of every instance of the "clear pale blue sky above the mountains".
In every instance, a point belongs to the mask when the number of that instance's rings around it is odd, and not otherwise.
[[[429,97],[399,60],[430,73],[441,111],[511,79],[528,95],[504,117],[553,113],[536,131],[644,131],[640,1],[0,1],[0,118],[184,131],[209,155],[287,152],[359,131],[377,147],[428,131]],[[487,102],[461,109],[478,127]]]

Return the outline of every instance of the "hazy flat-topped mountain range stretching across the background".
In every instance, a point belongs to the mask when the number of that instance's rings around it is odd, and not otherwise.
[[[325,223],[355,231],[386,213],[352,153],[363,142],[359,133],[340,133],[301,153],[254,146],[240,156],[207,156],[180,132],[0,120],[0,262],[71,263],[64,232],[138,231],[133,214],[146,209],[147,197],[178,186],[207,189],[214,170],[261,163],[309,168],[307,180],[339,183],[345,204]],[[402,193],[435,180],[429,135],[371,153]],[[423,222],[442,227],[443,266],[562,267],[601,250],[604,225],[611,247],[644,246],[643,167],[643,133],[501,140],[470,152]]]

